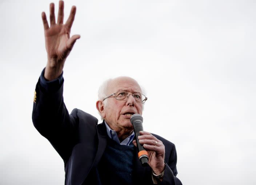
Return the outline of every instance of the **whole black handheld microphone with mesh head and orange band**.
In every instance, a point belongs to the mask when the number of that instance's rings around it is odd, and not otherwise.
[[[137,152],[140,159],[140,162],[143,166],[148,164],[148,152],[145,150],[142,144],[139,143],[138,136],[140,135],[140,131],[143,131],[143,117],[140,114],[133,114],[131,117],[131,123],[133,125],[133,130],[136,137],[137,143]]]

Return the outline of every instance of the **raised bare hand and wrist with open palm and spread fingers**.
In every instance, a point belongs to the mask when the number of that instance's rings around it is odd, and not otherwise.
[[[47,51],[47,65],[44,72],[44,77],[47,80],[53,80],[62,73],[65,60],[72,50],[76,40],[80,35],[73,35],[70,38],[70,31],[75,19],[76,7],[71,8],[68,20],[63,24],[64,18],[64,1],[59,1],[59,12],[57,24],[55,22],[54,3],[50,4],[50,24],[42,12],[42,20],[44,25],[45,48]]]

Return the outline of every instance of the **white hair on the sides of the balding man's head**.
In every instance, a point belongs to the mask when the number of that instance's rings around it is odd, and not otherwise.
[[[110,79],[107,79],[107,80],[103,81],[103,83],[99,87],[98,100],[103,101],[104,98],[106,98],[107,96],[110,95],[110,94],[107,94],[108,93],[108,88],[109,88],[109,85],[112,83],[112,81],[115,80],[115,79],[117,79],[117,78],[114,78],[114,79],[110,78]],[[140,84],[139,84],[139,87],[141,89],[141,93],[146,96],[145,89]],[[113,92],[113,93],[116,93],[116,92]],[[103,105],[105,105],[106,107],[108,106],[108,98],[104,100]],[[142,104],[142,110],[144,110],[144,104]],[[100,114],[100,112],[99,112],[99,114]],[[101,120],[103,120],[103,117],[101,115],[100,115],[100,117],[101,117]]]

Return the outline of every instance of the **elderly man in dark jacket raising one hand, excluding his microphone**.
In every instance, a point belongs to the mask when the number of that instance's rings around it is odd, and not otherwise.
[[[164,138],[141,131],[139,143],[148,151],[148,165],[139,161],[130,118],[142,114],[147,98],[134,79],[117,77],[100,87],[96,108],[104,119],[101,124],[79,109],[69,115],[63,101],[63,67],[80,35],[69,37],[76,7],[65,24],[63,10],[60,1],[56,23],[50,4],[50,27],[42,13],[48,61],[36,85],[32,120],[64,160],[65,184],[181,184],[175,146]]]

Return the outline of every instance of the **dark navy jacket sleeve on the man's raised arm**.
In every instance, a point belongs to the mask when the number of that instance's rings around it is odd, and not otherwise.
[[[63,101],[63,82],[46,91],[37,82],[33,103],[32,121],[41,135],[49,140],[61,158],[67,160],[77,141],[76,113],[69,115]]]

